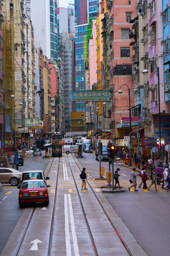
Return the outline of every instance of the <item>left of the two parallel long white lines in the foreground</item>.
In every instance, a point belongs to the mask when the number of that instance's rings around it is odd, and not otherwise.
[[[66,194],[65,194],[65,236],[66,236],[66,255],[71,256],[69,217],[68,217],[67,195]]]

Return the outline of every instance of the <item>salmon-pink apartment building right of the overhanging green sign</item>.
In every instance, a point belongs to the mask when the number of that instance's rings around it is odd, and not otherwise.
[[[120,122],[120,118],[129,117],[129,94],[130,106],[134,106],[132,61],[133,56],[131,38],[131,19],[137,16],[137,1],[115,0],[109,7],[108,24],[112,24],[109,32],[110,43],[110,61],[111,61],[111,82],[110,87],[114,90],[111,98],[111,132],[112,137],[121,139],[129,135],[129,123]],[[121,86],[122,85],[122,86]],[[127,85],[127,86],[126,86]],[[118,90],[122,94],[118,94]]]

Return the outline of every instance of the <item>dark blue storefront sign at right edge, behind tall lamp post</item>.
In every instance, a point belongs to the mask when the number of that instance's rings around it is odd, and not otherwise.
[[[170,132],[170,116],[160,117],[160,128],[162,133]],[[154,129],[155,133],[159,133],[159,117],[154,118]]]

